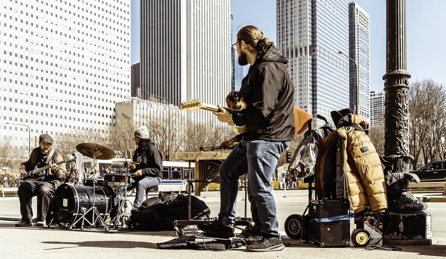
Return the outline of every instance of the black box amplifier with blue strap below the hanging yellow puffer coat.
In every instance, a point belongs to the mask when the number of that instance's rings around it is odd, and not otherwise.
[[[350,214],[347,200],[311,200],[310,226],[311,239],[319,247],[350,246],[350,237],[354,231],[354,218],[317,222],[314,219],[325,219]]]

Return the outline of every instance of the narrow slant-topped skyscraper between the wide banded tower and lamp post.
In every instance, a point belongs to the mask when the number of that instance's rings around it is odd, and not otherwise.
[[[350,58],[356,61],[359,71],[359,116],[370,119],[370,18],[357,3],[348,4]],[[356,110],[355,64],[350,61],[350,108]]]

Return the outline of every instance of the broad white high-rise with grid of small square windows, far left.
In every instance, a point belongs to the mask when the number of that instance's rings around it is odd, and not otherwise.
[[[128,1],[2,1],[0,136],[106,131],[130,92],[129,28]]]

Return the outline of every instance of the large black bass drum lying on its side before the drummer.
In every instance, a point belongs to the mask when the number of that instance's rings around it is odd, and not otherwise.
[[[96,186],[95,191],[95,206],[100,214],[107,214],[108,201],[107,195],[102,187]],[[76,222],[83,213],[83,210],[87,211],[93,206],[93,187],[62,184],[54,192],[52,208],[54,221],[59,226],[71,226]],[[97,215],[95,215],[97,217]],[[107,215],[100,216],[104,220]],[[93,212],[90,210],[86,216],[84,225],[93,224]],[[88,222],[87,222],[88,220]],[[96,220],[96,218],[95,218]],[[76,225],[82,224],[82,219],[79,220]],[[99,221],[96,222],[96,225]]]

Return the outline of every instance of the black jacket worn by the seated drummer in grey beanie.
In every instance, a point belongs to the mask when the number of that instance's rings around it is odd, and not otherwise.
[[[141,169],[143,176],[161,177],[163,160],[160,150],[153,141],[150,141],[149,147],[144,150],[141,147],[136,148],[133,154],[133,161],[140,163],[136,164],[135,169],[132,169],[133,172]]]

